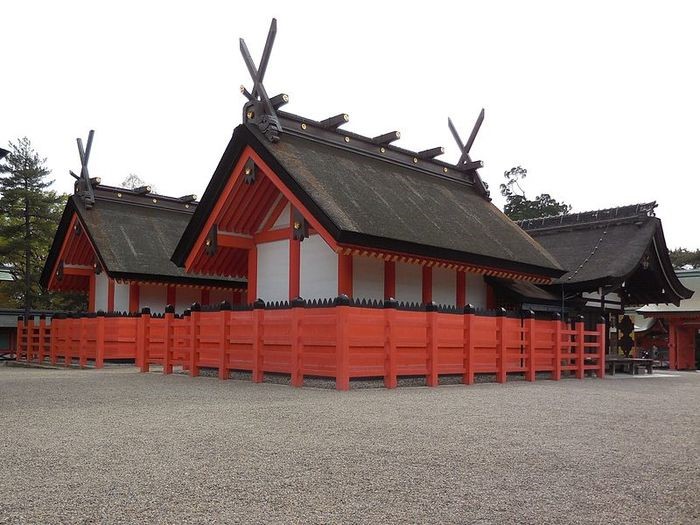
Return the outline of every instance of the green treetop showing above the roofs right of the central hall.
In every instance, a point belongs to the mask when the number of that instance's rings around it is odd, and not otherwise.
[[[514,221],[536,219],[550,215],[565,215],[571,211],[571,206],[552,198],[549,193],[537,195],[535,200],[525,196],[525,190],[520,183],[527,177],[527,170],[520,166],[511,168],[503,176],[506,179],[501,184],[501,195],[506,198],[503,213]]]

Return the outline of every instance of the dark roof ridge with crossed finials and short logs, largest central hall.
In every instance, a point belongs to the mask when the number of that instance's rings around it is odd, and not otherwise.
[[[462,143],[452,120],[448,119],[449,129],[460,149],[460,158],[457,164],[450,164],[436,159],[436,157],[445,152],[443,147],[414,152],[394,146],[393,143],[401,138],[399,131],[390,131],[376,137],[365,137],[357,133],[341,130],[339,128],[350,120],[347,113],[340,113],[324,120],[315,121],[284,111],[278,111],[280,107],[289,102],[289,97],[286,94],[269,97],[263,85],[276,35],[277,20],[273,18],[258,67],[256,67],[251,58],[245,40],[242,38],[239,40],[241,55],[253,80],[251,91],[248,91],[245,86],[241,85],[241,93],[247,99],[243,106],[244,124],[257,128],[273,143],[279,141],[282,132],[304,136],[318,142],[352,150],[362,155],[400,164],[417,171],[425,171],[442,178],[466,182],[475,187],[477,192],[483,197],[489,199],[488,188],[476,171],[478,168],[482,168],[484,163],[482,161],[472,161],[470,157],[472,145],[484,121],[484,109],[479,113],[469,140],[466,143]]]

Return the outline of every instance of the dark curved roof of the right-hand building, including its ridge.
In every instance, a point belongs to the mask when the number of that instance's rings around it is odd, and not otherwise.
[[[655,202],[520,221],[569,271],[553,281],[569,291],[610,291],[628,301],[677,303],[692,292],[676,277]]]

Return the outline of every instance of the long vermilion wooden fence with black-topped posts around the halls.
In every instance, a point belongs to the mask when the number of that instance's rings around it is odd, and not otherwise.
[[[393,388],[401,376],[424,376],[430,386],[441,375],[462,376],[465,384],[477,374],[524,374],[529,381],[547,372],[583,378],[586,371],[605,374],[605,325],[586,330],[582,319],[570,324],[558,316],[535,319],[503,311],[476,312],[435,305],[405,307],[334,302],[265,305],[217,311],[169,312],[151,316],[148,309],[130,316],[72,316],[18,324],[18,359],[101,367],[109,359],[134,359],[144,372],[151,365],[172,373],[182,367],[196,376],[201,368],[250,371],[253,381],[265,373],[291,375],[295,386],[304,377],[336,380],[347,390],[353,378],[383,378]]]

